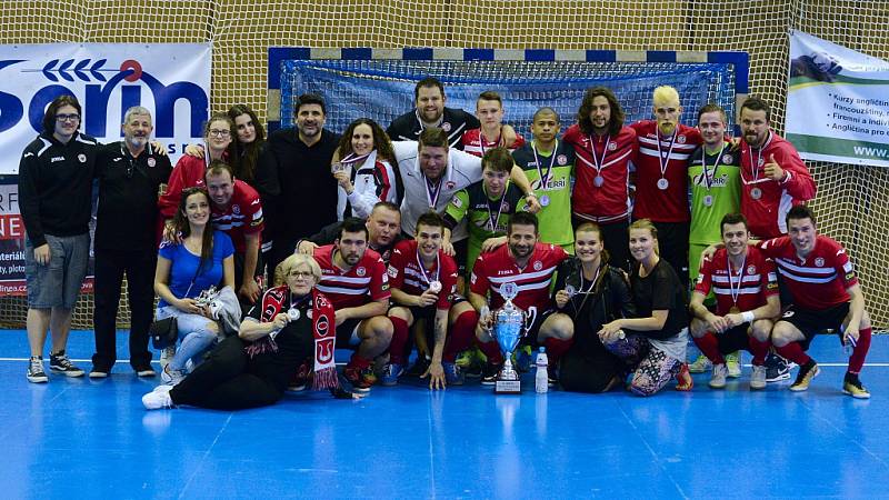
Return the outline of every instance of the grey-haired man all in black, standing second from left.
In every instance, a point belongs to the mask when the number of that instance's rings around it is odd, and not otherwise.
[[[96,160],[99,209],[96,217],[96,353],[91,379],[108,377],[117,360],[116,319],[123,273],[130,306],[130,364],[153,377],[148,328],[154,308],[158,197],[170,179],[170,158],[149,142],[148,109],[134,106],[123,117],[123,140],[103,146]]]

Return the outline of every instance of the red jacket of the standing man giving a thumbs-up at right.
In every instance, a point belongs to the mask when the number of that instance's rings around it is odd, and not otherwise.
[[[769,158],[787,172],[783,182],[763,173]],[[815,198],[815,180],[793,144],[770,131],[763,148],[741,141],[741,213],[747,218],[750,233],[757,238],[778,238],[787,233],[785,217],[795,204]],[[759,189],[758,198],[751,193]]]

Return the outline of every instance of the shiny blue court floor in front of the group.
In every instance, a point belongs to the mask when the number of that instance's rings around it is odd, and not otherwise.
[[[88,359],[91,332],[72,332],[69,353]],[[4,330],[0,497],[889,498],[889,337],[862,372],[870,400],[841,393],[835,337],[811,353],[822,372],[806,393],[750,392],[746,367],[722,391],[702,374],[691,393],[648,399],[537,394],[531,378],[521,396],[473,381],[433,393],[414,379],[360,401],[149,412],[158,379],[120,361],[101,381],[29,383],[24,332]]]

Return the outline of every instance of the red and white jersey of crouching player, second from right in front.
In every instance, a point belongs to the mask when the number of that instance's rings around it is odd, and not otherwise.
[[[721,248],[712,257],[703,259],[698,282],[695,284],[695,291],[705,297],[710,293],[711,289],[713,290],[718,316],[728,314],[735,306],[741,312],[751,311],[765,306],[767,298],[778,294],[775,262],[767,258],[761,250],[748,247],[747,258],[741,269],[731,271],[729,271],[728,256],[728,250]]]

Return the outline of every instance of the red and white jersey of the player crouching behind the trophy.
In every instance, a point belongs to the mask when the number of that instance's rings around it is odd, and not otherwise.
[[[512,299],[512,303],[525,310],[533,306],[541,313],[551,307],[549,284],[552,274],[568,257],[559,246],[537,243],[528,264],[520,269],[509,251],[509,244],[503,244],[495,251],[482,253],[476,260],[470,290],[482,297],[490,290],[491,309],[498,309],[506,302],[500,294],[500,287],[516,283],[519,293]]]

